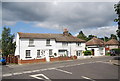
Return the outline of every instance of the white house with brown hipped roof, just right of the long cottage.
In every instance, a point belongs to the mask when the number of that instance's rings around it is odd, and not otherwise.
[[[87,50],[92,51],[93,56],[105,55],[105,42],[101,39],[93,37],[91,40],[86,42]]]

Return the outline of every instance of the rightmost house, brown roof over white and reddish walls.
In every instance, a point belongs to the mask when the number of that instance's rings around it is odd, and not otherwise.
[[[111,39],[105,43],[106,51],[118,48],[119,42],[116,39]]]

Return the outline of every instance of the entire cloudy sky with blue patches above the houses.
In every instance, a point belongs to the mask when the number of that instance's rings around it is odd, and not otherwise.
[[[62,33],[67,28],[75,36],[81,30],[85,35],[110,36],[117,30],[115,3],[6,1],[0,3],[0,23],[10,27],[12,34]]]

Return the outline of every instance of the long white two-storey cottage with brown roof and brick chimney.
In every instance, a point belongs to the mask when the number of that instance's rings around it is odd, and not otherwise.
[[[43,59],[50,57],[81,56],[85,50],[85,41],[68,33],[63,34],[17,33],[15,55],[20,60]]]

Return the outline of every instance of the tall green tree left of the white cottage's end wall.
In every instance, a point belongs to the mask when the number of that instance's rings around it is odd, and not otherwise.
[[[2,31],[2,55],[8,56],[14,54],[15,43],[13,43],[14,34],[10,34],[10,28],[3,28]]]

